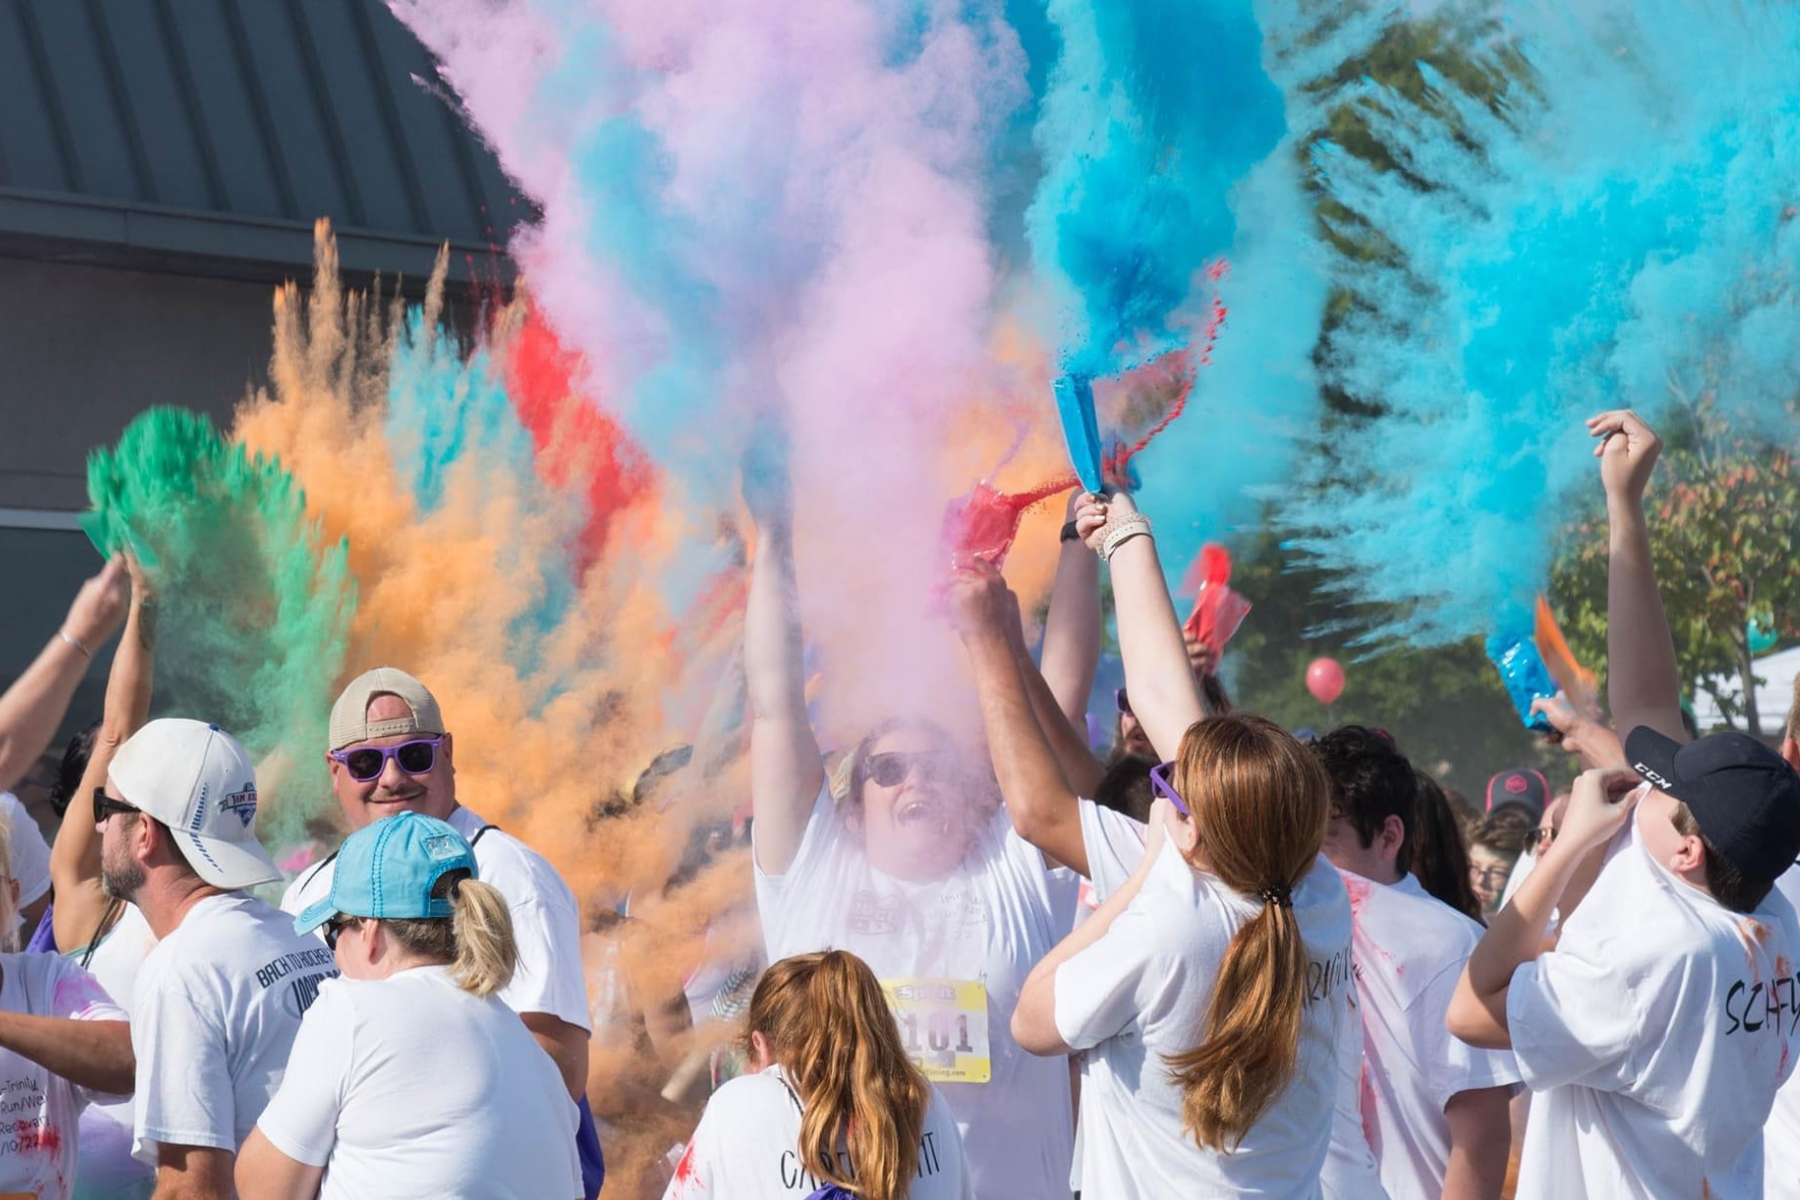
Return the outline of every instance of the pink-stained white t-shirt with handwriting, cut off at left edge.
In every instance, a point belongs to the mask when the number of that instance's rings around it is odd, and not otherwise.
[[[0,1009],[72,1020],[124,1020],[106,991],[54,954],[0,954]],[[0,1195],[67,1200],[76,1177],[77,1119],[94,1092],[0,1051]]]

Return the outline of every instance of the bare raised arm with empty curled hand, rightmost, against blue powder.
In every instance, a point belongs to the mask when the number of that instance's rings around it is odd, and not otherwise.
[[[1629,408],[1588,419],[1600,437],[1593,453],[1606,484],[1611,527],[1606,570],[1606,694],[1622,732],[1638,725],[1687,741],[1681,723],[1681,675],[1669,635],[1663,597],[1651,563],[1651,527],[1643,516],[1643,489],[1656,468],[1661,441]]]

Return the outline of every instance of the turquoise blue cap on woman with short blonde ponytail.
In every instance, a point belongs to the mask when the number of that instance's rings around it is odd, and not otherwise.
[[[475,851],[436,817],[398,813],[344,838],[331,871],[331,894],[293,918],[310,934],[335,914],[353,918],[446,918],[448,900],[432,889],[450,871],[475,876]]]

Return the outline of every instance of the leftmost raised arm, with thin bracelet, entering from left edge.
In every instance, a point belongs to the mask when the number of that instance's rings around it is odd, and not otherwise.
[[[49,748],[88,662],[119,631],[124,608],[126,567],[113,558],[81,585],[61,628],[0,694],[0,790],[16,786]]]

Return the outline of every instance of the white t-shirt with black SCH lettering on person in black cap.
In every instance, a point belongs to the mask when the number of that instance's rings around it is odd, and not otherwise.
[[[1737,914],[1674,878],[1638,838],[1643,811],[1557,948],[1512,975],[1535,1092],[1519,1200],[1762,1196],[1762,1124],[1795,1065],[1795,910],[1769,892]]]

